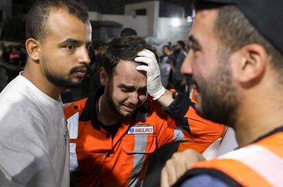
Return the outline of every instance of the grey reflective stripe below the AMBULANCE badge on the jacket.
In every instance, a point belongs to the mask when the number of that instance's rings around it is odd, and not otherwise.
[[[135,134],[134,164],[129,186],[137,186],[138,175],[142,171],[145,160],[148,134]]]

